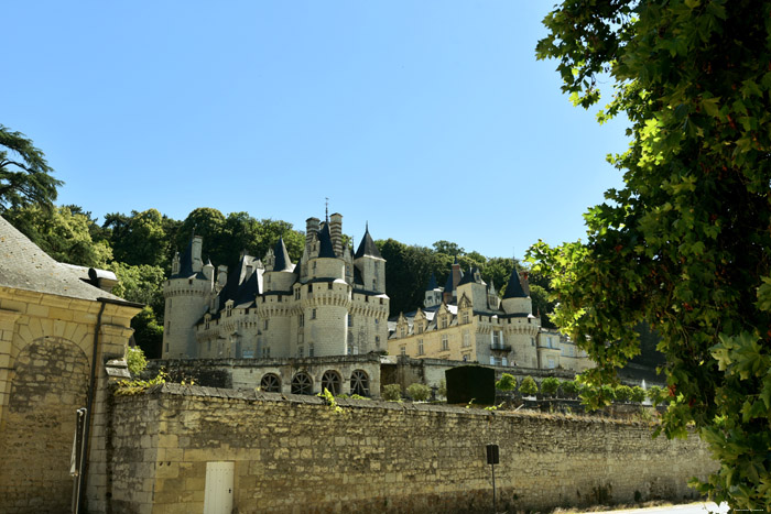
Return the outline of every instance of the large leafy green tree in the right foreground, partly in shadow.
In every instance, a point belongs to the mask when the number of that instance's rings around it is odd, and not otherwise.
[[[663,430],[695,426],[721,463],[697,486],[735,508],[771,508],[770,18],[751,0],[565,0],[536,48],[576,105],[612,84],[598,119],[626,114],[632,138],[587,242],[530,251],[553,319],[597,361],[594,385],[615,382],[639,352],[633,328],[651,324]]]

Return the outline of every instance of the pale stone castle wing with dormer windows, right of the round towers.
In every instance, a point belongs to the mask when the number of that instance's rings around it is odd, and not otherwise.
[[[585,352],[533,316],[526,275],[514,270],[502,299],[479,270],[457,262],[444,287],[431,276],[423,308],[389,321],[390,354],[532,369],[593,367]]]

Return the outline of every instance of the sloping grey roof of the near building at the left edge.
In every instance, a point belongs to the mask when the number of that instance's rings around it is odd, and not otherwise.
[[[56,262],[2,217],[0,217],[0,286],[68,298],[121,299],[83,282],[77,272]]]

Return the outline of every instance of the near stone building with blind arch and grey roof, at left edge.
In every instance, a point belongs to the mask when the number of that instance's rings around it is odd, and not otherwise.
[[[141,306],[91,285],[111,282],[99,271],[85,273],[90,284],[82,275],[0,218],[0,512],[70,512],[74,495],[89,512],[106,510],[106,385],[128,376],[122,359]],[[74,479],[79,408],[88,414]]]

